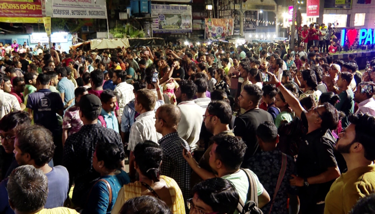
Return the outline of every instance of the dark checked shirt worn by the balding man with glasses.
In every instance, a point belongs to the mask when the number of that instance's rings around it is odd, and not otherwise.
[[[163,149],[162,165],[160,170],[163,175],[173,178],[182,191],[184,200],[190,197],[191,168],[182,156],[184,147],[190,150],[189,144],[178,136],[178,132],[172,132],[159,140]]]

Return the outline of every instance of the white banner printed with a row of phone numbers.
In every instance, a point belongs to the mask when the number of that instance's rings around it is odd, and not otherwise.
[[[52,0],[52,17],[107,19],[107,7],[105,0]]]

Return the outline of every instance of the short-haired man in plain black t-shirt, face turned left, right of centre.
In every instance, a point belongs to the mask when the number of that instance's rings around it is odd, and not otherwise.
[[[262,95],[263,91],[259,86],[245,85],[238,98],[240,107],[246,112],[234,120],[233,133],[246,143],[247,149],[243,162],[260,151],[257,138],[258,126],[264,121],[273,122],[271,114],[258,107]]]

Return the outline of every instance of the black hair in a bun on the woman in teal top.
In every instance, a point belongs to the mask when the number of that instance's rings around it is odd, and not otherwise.
[[[123,149],[114,143],[99,141],[95,146],[98,161],[104,161],[105,168],[109,170],[121,168],[121,161],[125,158]]]

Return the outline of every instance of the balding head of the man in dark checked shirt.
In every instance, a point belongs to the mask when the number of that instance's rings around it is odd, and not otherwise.
[[[165,104],[157,109],[157,116],[165,120],[168,128],[177,127],[181,119],[181,111],[175,105]]]

